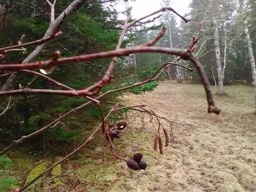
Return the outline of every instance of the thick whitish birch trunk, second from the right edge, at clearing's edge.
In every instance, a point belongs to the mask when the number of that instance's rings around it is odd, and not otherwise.
[[[216,62],[217,62],[217,73],[218,73],[218,88],[217,88],[217,94],[224,94],[223,91],[223,80],[224,80],[224,74],[222,71],[222,61],[220,57],[220,47],[219,47],[219,29],[217,26],[216,19],[213,19],[214,22],[214,49],[215,49],[215,55],[216,55]]]

